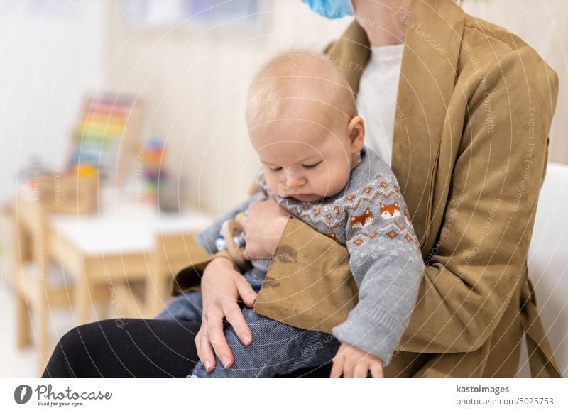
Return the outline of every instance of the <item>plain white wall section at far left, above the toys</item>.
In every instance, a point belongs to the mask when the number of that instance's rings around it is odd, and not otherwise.
[[[97,86],[105,1],[0,2],[0,202],[32,155],[61,167],[80,98]]]

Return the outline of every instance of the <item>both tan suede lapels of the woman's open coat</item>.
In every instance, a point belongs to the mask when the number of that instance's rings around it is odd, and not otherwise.
[[[452,0],[414,0],[407,25],[393,136],[393,172],[403,190],[422,253],[430,231],[435,174],[447,106],[456,82],[464,12]],[[325,51],[356,93],[371,50],[355,21]]]

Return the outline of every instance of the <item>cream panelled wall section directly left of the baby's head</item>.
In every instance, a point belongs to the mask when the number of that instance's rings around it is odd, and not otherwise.
[[[349,23],[320,18],[300,0],[260,3],[253,28],[132,26],[111,10],[107,86],[141,95],[145,128],[166,141],[168,170],[189,181],[193,204],[213,212],[244,198],[258,170],[243,108],[253,73],[289,45],[322,48]]]

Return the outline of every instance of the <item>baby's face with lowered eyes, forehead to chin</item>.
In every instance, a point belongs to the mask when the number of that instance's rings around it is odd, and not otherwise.
[[[249,134],[268,187],[281,197],[317,202],[346,186],[362,138],[354,144],[347,121],[308,117],[271,121]]]

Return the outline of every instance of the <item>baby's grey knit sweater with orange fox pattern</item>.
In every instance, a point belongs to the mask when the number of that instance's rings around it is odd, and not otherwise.
[[[273,194],[259,175],[259,192],[223,214],[195,238],[209,253],[221,224],[258,199],[270,196],[290,214],[349,250],[350,267],[359,286],[359,303],[333,333],[343,343],[368,351],[388,365],[408,325],[424,264],[398,182],[381,158],[368,148],[351,170],[346,187],[321,202],[300,202]],[[269,265],[269,263],[268,263]],[[264,277],[266,260],[253,262]]]

